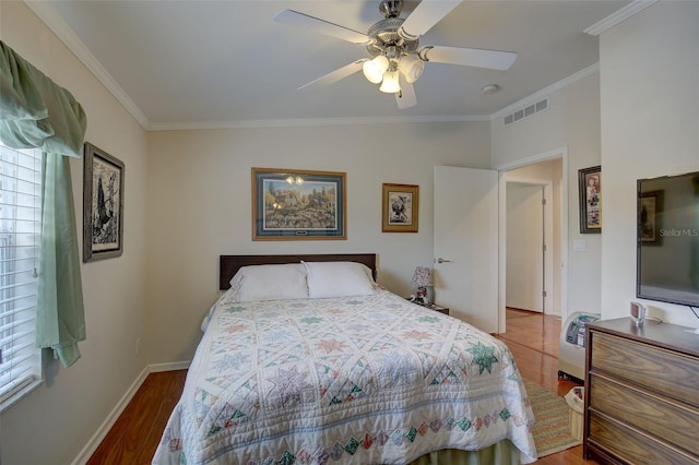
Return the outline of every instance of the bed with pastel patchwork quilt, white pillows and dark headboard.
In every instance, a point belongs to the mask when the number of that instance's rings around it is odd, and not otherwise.
[[[154,464],[531,463],[493,336],[375,282],[375,254],[222,255]]]

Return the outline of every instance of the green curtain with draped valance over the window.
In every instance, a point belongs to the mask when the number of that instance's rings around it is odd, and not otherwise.
[[[0,140],[40,148],[42,243],[36,339],[64,367],[85,339],[75,207],[68,157],[81,157],[87,119],[70,92],[0,40]]]

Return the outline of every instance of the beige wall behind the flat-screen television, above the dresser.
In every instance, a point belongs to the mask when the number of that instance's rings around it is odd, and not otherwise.
[[[636,180],[699,170],[699,2],[657,2],[600,38],[602,314],[636,299]],[[687,307],[649,313],[699,326]]]

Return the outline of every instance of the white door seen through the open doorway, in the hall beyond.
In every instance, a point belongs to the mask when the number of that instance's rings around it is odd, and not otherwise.
[[[543,186],[507,183],[507,307],[544,311],[543,199]]]

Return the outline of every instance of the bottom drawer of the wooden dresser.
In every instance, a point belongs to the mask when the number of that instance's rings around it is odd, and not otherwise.
[[[590,413],[588,442],[636,464],[699,464],[699,458],[657,442],[615,420]]]

